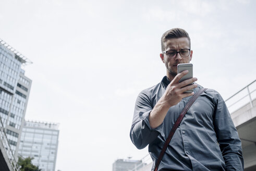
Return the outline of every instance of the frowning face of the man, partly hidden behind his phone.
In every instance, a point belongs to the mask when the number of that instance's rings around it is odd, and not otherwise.
[[[164,42],[164,51],[180,51],[182,49],[189,49],[189,40],[188,38],[172,38],[167,39],[166,42]],[[177,65],[178,64],[184,64],[189,63],[192,59],[192,51],[190,51],[190,54],[188,57],[181,57],[179,53],[176,54],[174,58],[167,57],[166,53],[161,53],[160,57],[162,59],[162,62],[166,66],[167,76],[170,75],[171,77],[175,77],[177,75]]]

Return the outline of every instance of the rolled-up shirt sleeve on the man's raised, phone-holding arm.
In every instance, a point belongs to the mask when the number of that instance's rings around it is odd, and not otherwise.
[[[141,92],[136,100],[133,114],[130,139],[138,149],[145,148],[162,133],[163,124],[152,129],[149,124],[149,114],[152,111],[152,101],[147,92]]]

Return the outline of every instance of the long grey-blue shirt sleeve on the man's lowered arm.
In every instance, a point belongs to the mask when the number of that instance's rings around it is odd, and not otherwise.
[[[226,164],[225,170],[243,170],[241,140],[224,100],[220,94],[216,96],[214,128]]]

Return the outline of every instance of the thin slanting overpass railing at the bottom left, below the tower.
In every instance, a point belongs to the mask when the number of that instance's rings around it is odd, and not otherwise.
[[[7,163],[7,165],[11,168],[10,171],[20,171],[19,166],[15,160],[13,151],[10,148],[10,144],[8,142],[5,130],[4,130],[4,124],[2,122],[2,119],[0,117],[0,143],[2,143],[1,146],[3,146],[4,148],[1,149],[3,155],[7,155],[7,161],[5,161]],[[6,157],[4,157],[6,158]],[[0,169],[1,170],[1,169]]]

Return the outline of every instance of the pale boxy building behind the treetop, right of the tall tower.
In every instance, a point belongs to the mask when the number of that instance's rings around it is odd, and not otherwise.
[[[54,171],[58,150],[59,124],[26,121],[23,126],[19,155],[33,157],[32,164],[42,171]]]

